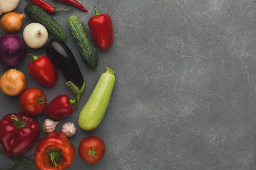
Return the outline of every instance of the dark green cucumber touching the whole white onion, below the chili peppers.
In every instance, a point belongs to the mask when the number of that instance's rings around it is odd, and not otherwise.
[[[46,11],[39,6],[25,6],[25,13],[33,20],[41,23],[55,38],[61,41],[66,41],[66,34],[61,25]]]

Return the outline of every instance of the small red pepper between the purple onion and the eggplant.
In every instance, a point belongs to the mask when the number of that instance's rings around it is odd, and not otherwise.
[[[47,55],[37,57],[30,54],[30,56],[33,61],[29,63],[28,70],[32,77],[45,87],[54,87],[58,74],[50,58]]]

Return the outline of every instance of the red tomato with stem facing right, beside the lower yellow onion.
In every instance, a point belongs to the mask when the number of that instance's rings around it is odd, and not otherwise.
[[[44,92],[39,88],[29,88],[20,95],[19,105],[22,111],[28,115],[42,113],[47,104]]]

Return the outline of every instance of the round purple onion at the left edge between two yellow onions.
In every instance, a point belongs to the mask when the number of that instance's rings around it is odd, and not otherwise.
[[[0,62],[8,67],[20,64],[26,57],[27,46],[24,40],[14,34],[0,37]]]

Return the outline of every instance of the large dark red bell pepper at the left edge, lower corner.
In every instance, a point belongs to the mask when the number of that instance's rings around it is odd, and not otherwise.
[[[35,146],[40,135],[40,125],[25,113],[10,113],[0,120],[0,143],[5,155],[18,156]]]

